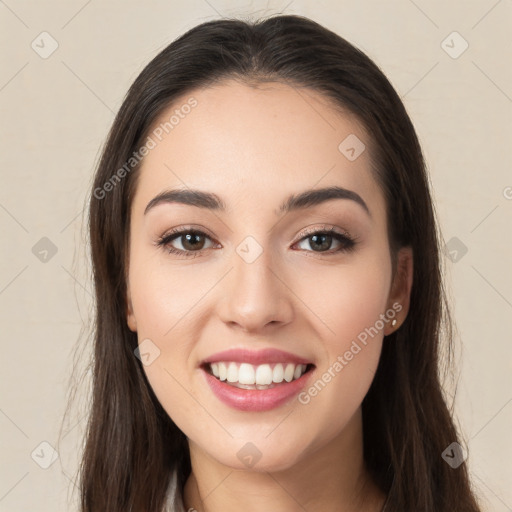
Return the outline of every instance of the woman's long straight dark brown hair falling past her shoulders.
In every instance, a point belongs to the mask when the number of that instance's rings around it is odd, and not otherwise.
[[[90,196],[96,302],[81,510],[159,512],[169,475],[176,472],[182,492],[190,474],[186,437],[155,397],[134,355],[137,335],[126,323],[130,204],[139,168],[126,163],[174,100],[227,78],[318,91],[355,114],[370,134],[392,253],[410,246],[415,261],[409,314],[386,337],[362,403],[365,461],[389,493],[390,511],[479,511],[466,464],[452,468],[442,457],[460,440],[440,375],[451,363],[452,340],[440,235],[414,127],[390,82],[364,53],[316,22],[282,15],[192,28],[145,67],[114,120]],[[123,167],[124,173],[116,173]]]

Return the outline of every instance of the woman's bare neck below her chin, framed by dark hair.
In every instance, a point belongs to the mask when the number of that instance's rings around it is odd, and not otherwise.
[[[360,409],[337,437],[281,471],[233,469],[212,460],[190,440],[189,446],[187,511],[380,512],[385,502],[365,468]]]

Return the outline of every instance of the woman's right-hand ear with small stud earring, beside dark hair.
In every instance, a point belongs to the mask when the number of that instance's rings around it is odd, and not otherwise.
[[[396,331],[405,321],[409,312],[411,289],[413,280],[413,252],[411,247],[402,247],[397,254],[397,263],[391,289],[389,291],[387,308],[396,312],[395,325],[388,322],[384,329],[384,336]]]

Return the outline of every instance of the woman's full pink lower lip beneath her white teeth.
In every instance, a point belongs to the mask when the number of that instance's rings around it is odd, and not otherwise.
[[[240,389],[220,381],[210,373],[202,370],[215,396],[224,404],[240,411],[269,411],[284,404],[300,393],[313,370],[308,371],[297,380],[278,384],[270,389]]]

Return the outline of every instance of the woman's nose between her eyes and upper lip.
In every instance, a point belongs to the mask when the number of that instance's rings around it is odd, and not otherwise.
[[[232,269],[225,277],[218,314],[230,328],[266,333],[292,321],[293,292],[284,272],[273,264],[269,250],[251,262],[234,252]]]

